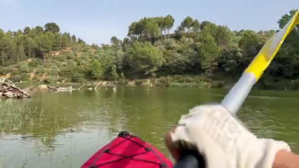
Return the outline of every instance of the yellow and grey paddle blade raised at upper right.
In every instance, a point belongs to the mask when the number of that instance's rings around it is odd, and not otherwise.
[[[259,54],[250,63],[244,73],[252,73],[258,81],[265,69],[278,52],[286,36],[299,24],[299,11],[292,19],[277,33],[275,33],[263,46]]]

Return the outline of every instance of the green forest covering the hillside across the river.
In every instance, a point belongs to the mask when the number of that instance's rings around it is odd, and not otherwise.
[[[277,21],[279,28],[295,13],[296,10],[291,10],[283,15]],[[180,25],[170,33],[175,22]],[[135,21],[128,26],[127,37],[113,36],[111,44],[99,46],[88,45],[75,35],[60,32],[56,23],[18,31],[0,29],[0,73],[11,73],[10,78],[16,82],[34,83],[178,75],[207,78],[218,75],[225,80],[238,78],[276,31],[237,31],[189,16],[176,21],[167,15]],[[261,79],[264,88],[273,88],[273,82],[299,78],[298,46],[297,26]]]

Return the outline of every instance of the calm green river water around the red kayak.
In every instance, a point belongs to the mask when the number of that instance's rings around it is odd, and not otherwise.
[[[219,102],[227,91],[100,87],[0,100],[0,168],[79,168],[123,130],[170,157],[165,132],[190,108]],[[254,90],[238,117],[259,137],[285,140],[299,153],[298,108],[299,92]]]

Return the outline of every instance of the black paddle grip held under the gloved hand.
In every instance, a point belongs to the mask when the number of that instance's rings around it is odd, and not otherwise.
[[[204,157],[197,151],[184,150],[174,168],[206,168]]]

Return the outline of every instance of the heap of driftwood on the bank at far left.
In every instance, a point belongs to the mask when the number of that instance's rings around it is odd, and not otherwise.
[[[0,83],[0,97],[2,98],[27,98],[31,97],[29,93],[16,87],[11,81]]]

